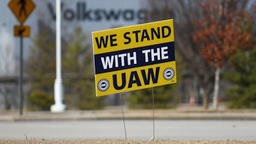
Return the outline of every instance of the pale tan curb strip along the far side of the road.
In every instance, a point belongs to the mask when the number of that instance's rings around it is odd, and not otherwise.
[[[152,109],[124,110],[126,120],[152,120]],[[157,120],[256,120],[255,111],[177,111],[155,109]],[[50,111],[0,113],[0,122],[33,121],[33,120],[118,120],[123,119],[122,111],[118,109],[93,111],[65,111],[51,113]]]

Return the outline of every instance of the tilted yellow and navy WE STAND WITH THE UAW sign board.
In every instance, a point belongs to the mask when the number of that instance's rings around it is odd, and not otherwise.
[[[92,33],[96,95],[177,83],[173,20]]]

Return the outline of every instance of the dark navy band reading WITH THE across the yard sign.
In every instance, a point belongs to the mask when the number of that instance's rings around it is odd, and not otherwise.
[[[174,42],[95,54],[95,74],[175,61]]]

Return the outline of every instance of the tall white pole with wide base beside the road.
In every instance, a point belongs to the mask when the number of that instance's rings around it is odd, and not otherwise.
[[[61,79],[61,0],[56,0],[56,79],[54,81],[54,101],[51,112],[63,112],[63,86]]]

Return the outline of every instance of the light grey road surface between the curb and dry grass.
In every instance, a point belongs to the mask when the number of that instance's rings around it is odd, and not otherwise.
[[[127,139],[256,140],[256,120],[125,120]],[[125,139],[123,120],[0,122],[1,140]]]

